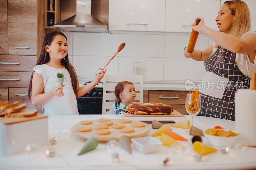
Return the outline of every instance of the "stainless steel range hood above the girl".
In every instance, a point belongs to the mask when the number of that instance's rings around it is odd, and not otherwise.
[[[91,0],[76,0],[76,15],[54,25],[62,32],[108,33],[108,26],[91,15]]]

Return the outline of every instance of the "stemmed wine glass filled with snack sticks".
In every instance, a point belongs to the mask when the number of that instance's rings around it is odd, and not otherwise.
[[[197,96],[196,96],[197,95]],[[201,97],[200,94],[195,94],[194,92],[188,93],[185,103],[186,111],[188,112],[188,115],[191,115],[192,117],[192,123],[191,126],[193,126],[193,118],[198,115],[198,113],[201,110]],[[190,126],[190,127],[191,127]],[[186,132],[189,133],[190,130],[187,130]]]

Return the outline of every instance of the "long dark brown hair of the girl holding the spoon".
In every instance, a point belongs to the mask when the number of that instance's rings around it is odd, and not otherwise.
[[[37,60],[36,65],[42,65],[42,64],[48,63],[50,61],[50,55],[45,50],[45,45],[50,46],[56,35],[62,35],[67,40],[67,37],[64,33],[61,33],[61,32],[58,32],[58,31],[47,33],[44,37],[44,41],[43,41],[43,44],[42,44],[42,47],[41,47],[41,53],[40,53],[40,56]],[[78,80],[77,80],[77,77],[76,77],[76,70],[75,70],[74,66],[69,63],[68,54],[64,58],[61,59],[60,63],[61,63],[61,65],[63,65],[68,70],[68,72],[70,74],[73,90],[74,90],[74,93],[76,95],[77,94],[76,91],[77,91],[77,82],[78,82]],[[34,71],[31,75],[30,82],[29,82],[29,87],[28,87],[28,98],[30,100],[31,100],[33,74],[34,74]]]

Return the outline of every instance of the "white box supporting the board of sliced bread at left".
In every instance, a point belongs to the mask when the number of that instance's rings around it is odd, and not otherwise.
[[[41,117],[13,124],[0,122],[0,156],[22,153],[32,143],[45,145],[48,142],[48,116]]]

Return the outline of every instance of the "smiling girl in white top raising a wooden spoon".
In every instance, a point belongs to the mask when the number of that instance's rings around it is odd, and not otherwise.
[[[44,104],[45,115],[78,114],[76,97],[81,97],[97,85],[105,74],[100,69],[94,81],[79,87],[76,71],[68,60],[67,37],[61,32],[47,33],[40,56],[31,75],[28,97],[34,106]],[[60,85],[57,73],[64,74]]]

